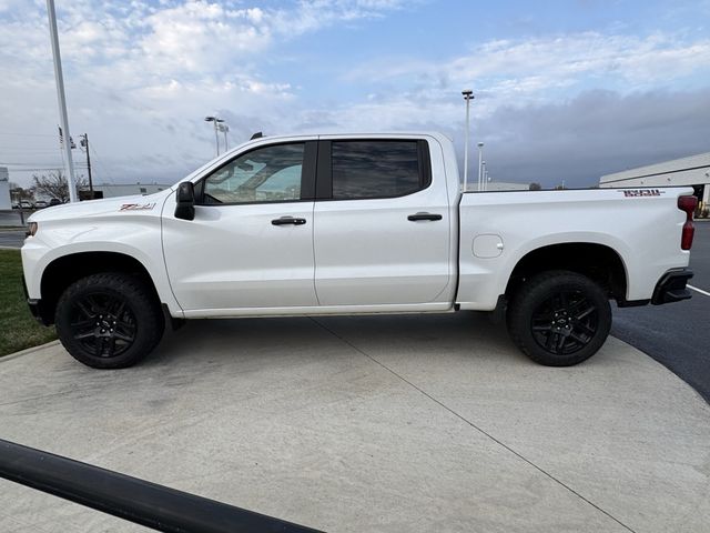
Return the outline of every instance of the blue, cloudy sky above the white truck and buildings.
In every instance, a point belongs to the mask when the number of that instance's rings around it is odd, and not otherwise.
[[[435,130],[463,164],[464,89],[495,181],[591,187],[710,151],[710,0],[55,4],[70,131],[89,135],[95,183],[179,181],[214,157],[214,114],[230,148],[256,131]],[[58,123],[47,3],[0,0],[11,181],[61,168]]]

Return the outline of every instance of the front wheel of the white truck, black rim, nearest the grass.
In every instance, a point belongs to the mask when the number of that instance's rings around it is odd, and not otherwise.
[[[160,342],[160,305],[140,279],[123,273],[83,278],[57,304],[57,333],[67,351],[94,369],[135,364]]]

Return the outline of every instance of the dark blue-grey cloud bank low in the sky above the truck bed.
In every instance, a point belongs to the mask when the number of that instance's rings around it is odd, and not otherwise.
[[[496,181],[590,187],[606,173],[710,150],[710,88],[503,107],[478,124]]]

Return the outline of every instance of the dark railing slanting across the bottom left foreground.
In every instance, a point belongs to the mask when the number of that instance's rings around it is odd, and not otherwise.
[[[316,531],[1,439],[0,477],[158,531]]]

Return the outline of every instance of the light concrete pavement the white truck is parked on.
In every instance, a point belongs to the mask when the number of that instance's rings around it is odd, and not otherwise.
[[[332,532],[707,531],[710,406],[474,313],[192,322],[133,369],[0,359],[0,435]],[[0,531],[145,531],[0,481]]]

